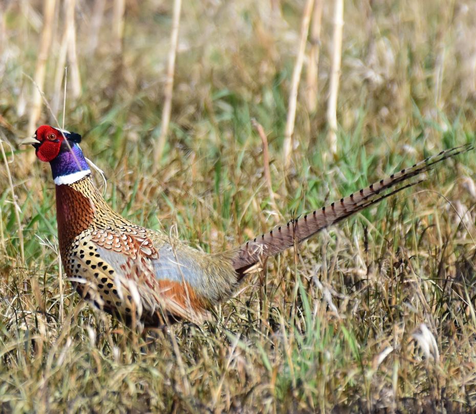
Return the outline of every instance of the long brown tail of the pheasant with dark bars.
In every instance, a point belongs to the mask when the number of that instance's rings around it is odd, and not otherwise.
[[[320,230],[366,207],[379,203],[405,188],[419,184],[423,180],[397,187],[398,184],[431,170],[435,164],[472,148],[473,146],[468,144],[441,151],[440,154],[429,157],[410,168],[404,168],[390,177],[382,179],[369,187],[362,188],[349,195],[349,197],[342,198],[329,206],[322,207],[320,210],[315,210],[285,225],[275,227],[269,233],[255,237],[232,253],[233,268],[238,274],[243,275],[262,258],[274,256],[292,247],[295,242],[300,243]],[[392,191],[387,192],[390,189]]]

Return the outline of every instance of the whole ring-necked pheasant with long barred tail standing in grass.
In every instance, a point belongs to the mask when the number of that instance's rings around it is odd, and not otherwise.
[[[32,144],[36,156],[51,165],[62,265],[84,299],[127,324],[147,327],[181,319],[202,322],[264,258],[417,184],[421,180],[408,180],[470,149],[442,151],[240,247],[207,254],[113,211],[93,183],[80,141],[79,134],[42,125],[22,142]],[[405,184],[397,187],[400,183]]]

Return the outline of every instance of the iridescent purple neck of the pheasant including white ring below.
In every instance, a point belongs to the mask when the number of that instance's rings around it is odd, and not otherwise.
[[[78,144],[71,151],[62,151],[50,162],[53,179],[56,184],[71,184],[91,173]]]

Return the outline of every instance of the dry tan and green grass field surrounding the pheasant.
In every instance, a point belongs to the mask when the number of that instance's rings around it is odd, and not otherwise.
[[[286,170],[305,2],[192,0],[182,5],[169,132],[155,164],[172,2],[126,1],[116,44],[117,3],[76,2],[81,84],[75,97],[69,69],[65,127],[83,135],[117,211],[193,247],[231,248],[474,142],[474,2],[344,2],[333,156],[334,2],[326,0],[317,106],[305,98],[308,39]],[[17,146],[28,133],[42,7],[0,3],[1,412],[476,410],[474,151],[298,254],[270,259],[202,326],[141,335],[82,302],[58,266],[50,168]],[[63,117],[62,3],[53,22],[42,88],[52,112],[43,106],[38,125]],[[253,118],[268,136],[274,200]]]

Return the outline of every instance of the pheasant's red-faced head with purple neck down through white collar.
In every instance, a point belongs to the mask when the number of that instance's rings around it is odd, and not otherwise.
[[[50,163],[57,185],[70,184],[91,173],[80,142],[79,134],[50,125],[41,125],[33,137],[22,141],[35,147],[35,154],[41,161]]]

